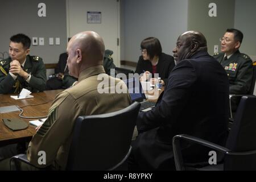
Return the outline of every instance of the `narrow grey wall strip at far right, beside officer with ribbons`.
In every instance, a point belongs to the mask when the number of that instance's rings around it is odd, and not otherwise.
[[[243,32],[240,51],[256,61],[256,1],[236,0],[234,27]]]

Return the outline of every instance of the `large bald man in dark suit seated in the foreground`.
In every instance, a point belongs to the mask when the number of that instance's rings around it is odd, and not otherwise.
[[[189,134],[224,144],[228,123],[229,81],[224,68],[207,53],[207,40],[197,31],[177,39],[176,67],[156,106],[141,112],[130,169],[175,169],[172,137]],[[204,147],[183,143],[187,162],[208,161]]]

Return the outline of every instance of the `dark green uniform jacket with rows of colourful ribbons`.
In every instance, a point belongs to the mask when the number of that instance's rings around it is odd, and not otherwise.
[[[216,53],[213,57],[224,67],[229,77],[230,94],[247,94],[253,78],[253,61],[240,51],[224,60],[225,53]]]

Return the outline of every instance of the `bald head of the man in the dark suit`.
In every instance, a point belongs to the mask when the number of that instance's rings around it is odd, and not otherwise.
[[[187,31],[179,36],[174,49],[176,61],[189,59],[199,51],[207,51],[207,40],[199,31]]]

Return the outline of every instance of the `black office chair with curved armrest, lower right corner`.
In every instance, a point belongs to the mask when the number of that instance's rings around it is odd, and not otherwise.
[[[243,96],[238,106],[226,147],[189,135],[176,135],[172,139],[175,166],[178,171],[193,170],[256,170],[256,97]],[[185,165],[180,151],[180,140],[201,144],[225,154],[224,163],[191,168]],[[210,158],[210,156],[209,156]]]

